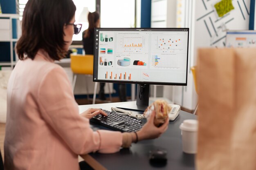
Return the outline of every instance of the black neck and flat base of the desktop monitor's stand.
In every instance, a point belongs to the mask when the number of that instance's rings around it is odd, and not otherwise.
[[[118,106],[118,108],[145,111],[149,104],[149,84],[137,84],[136,100],[136,104],[124,104]]]

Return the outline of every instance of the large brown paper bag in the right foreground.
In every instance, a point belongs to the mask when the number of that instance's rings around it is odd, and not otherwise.
[[[197,74],[197,170],[256,170],[256,49],[199,49]]]

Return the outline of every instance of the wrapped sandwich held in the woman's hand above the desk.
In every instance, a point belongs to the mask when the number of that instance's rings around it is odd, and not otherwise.
[[[171,106],[164,100],[156,100],[148,106],[144,112],[147,119],[150,117],[153,110],[155,110],[154,124],[159,127],[166,121],[166,117],[168,117],[168,113],[171,111]]]

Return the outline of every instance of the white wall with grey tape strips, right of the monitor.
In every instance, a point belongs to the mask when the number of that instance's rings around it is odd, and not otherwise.
[[[184,13],[181,27],[189,27],[188,85],[175,88],[175,103],[194,109],[197,102],[191,66],[196,65],[197,49],[202,47],[223,48],[226,30],[249,28],[250,0],[233,0],[234,9],[218,17],[214,4],[220,0],[178,0]]]

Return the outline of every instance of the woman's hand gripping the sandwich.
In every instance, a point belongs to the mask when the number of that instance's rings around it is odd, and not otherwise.
[[[165,132],[168,129],[169,124],[169,118],[166,118],[166,121],[162,126],[156,127],[154,125],[154,119],[155,119],[155,110],[152,111],[149,120],[147,123],[137,132],[138,135],[138,141],[145,140],[145,139],[155,139],[162,135],[163,132]]]

